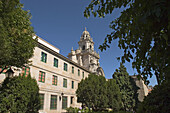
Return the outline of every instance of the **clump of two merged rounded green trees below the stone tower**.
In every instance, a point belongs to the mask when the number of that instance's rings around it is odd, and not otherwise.
[[[76,91],[78,102],[85,104],[93,111],[102,111],[112,108],[118,111],[121,108],[121,96],[118,85],[114,80],[106,79],[103,76],[89,74],[85,80],[82,79]]]

